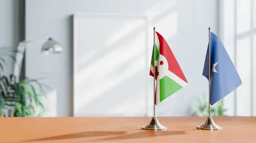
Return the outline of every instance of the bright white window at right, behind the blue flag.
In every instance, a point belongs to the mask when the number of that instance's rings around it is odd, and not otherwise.
[[[256,1],[221,0],[220,38],[242,85],[224,98],[228,115],[256,115]]]

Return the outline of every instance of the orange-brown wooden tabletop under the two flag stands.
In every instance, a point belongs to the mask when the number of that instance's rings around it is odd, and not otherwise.
[[[214,117],[221,131],[195,129],[205,117],[0,118],[0,143],[256,143],[256,117]]]

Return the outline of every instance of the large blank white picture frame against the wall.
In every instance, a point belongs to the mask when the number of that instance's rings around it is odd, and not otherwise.
[[[93,22],[93,20],[95,20],[95,21]],[[113,21],[111,21],[111,20],[113,20]],[[119,26],[120,23],[123,23],[125,21],[127,21],[128,23],[123,24],[122,25],[123,27]],[[105,22],[104,25],[100,25],[99,23],[101,23],[101,22]],[[111,25],[111,22],[113,25]],[[129,22],[131,22],[130,25],[129,25]],[[96,23],[96,24],[93,25],[93,23]],[[116,24],[116,25],[114,25],[114,24]],[[139,25],[139,28],[136,27],[138,25]],[[82,76],[81,76],[81,74],[78,74],[79,70],[82,69],[81,68],[81,54],[83,54],[83,52],[84,52],[84,51],[81,52],[82,51],[81,47],[84,46],[84,48],[88,50],[88,47],[86,47],[87,43],[81,42],[82,40],[81,40],[81,37],[79,37],[79,36],[84,37],[84,40],[85,41],[87,40],[87,42],[93,42],[94,40],[97,39],[99,43],[102,43],[102,41],[100,41],[101,39],[99,37],[93,38],[93,37],[90,37],[87,35],[81,35],[81,33],[83,33],[82,31],[84,31],[84,32],[86,31],[85,32],[86,34],[92,34],[93,28],[96,31],[95,35],[98,35],[99,34],[98,32],[100,31],[100,29],[97,28],[97,26],[99,28],[101,28],[101,26],[108,28],[108,29],[103,28],[101,35],[104,35],[104,34],[106,35],[106,33],[104,33],[104,32],[108,32],[108,30],[110,28],[113,29],[113,32],[114,31],[116,32],[116,36],[113,36],[114,34],[109,34],[108,38],[110,38],[110,40],[108,40],[105,43],[106,45],[111,44],[111,42],[112,42],[112,45],[115,45],[115,44],[113,44],[115,42],[121,43],[121,42],[118,42],[120,40],[119,38],[122,36],[124,36],[124,37],[126,36],[126,39],[125,38],[122,39],[122,41],[124,42],[123,45],[120,44],[119,46],[114,47],[115,49],[120,48],[119,49],[120,51],[115,51],[116,53],[126,52],[124,54],[132,55],[133,52],[131,50],[128,50],[129,48],[133,48],[134,46],[136,47],[136,45],[144,46],[143,49],[138,50],[138,52],[140,52],[140,54],[142,54],[142,55],[140,55],[142,58],[139,56],[138,60],[143,61],[143,63],[141,63],[141,65],[143,67],[142,68],[134,67],[129,64],[129,66],[131,66],[131,68],[130,68],[131,72],[134,72],[132,70],[140,70],[138,73],[140,73],[140,76],[143,77],[142,78],[143,81],[139,80],[139,79],[133,80],[133,81],[139,82],[141,84],[140,86],[143,88],[143,90],[140,90],[140,93],[133,93],[136,91],[132,91],[133,89],[130,89],[130,88],[135,87],[135,85],[131,84],[131,82],[127,83],[127,85],[131,86],[131,87],[125,88],[125,85],[119,87],[119,88],[122,88],[122,90],[124,90],[125,93],[123,93],[123,94],[125,94],[125,95],[123,95],[124,97],[118,97],[117,99],[113,99],[116,101],[110,102],[109,104],[115,104],[115,106],[111,106],[111,108],[110,108],[110,106],[108,106],[109,105],[108,103],[105,103],[104,101],[99,101],[99,100],[106,99],[107,98],[106,96],[108,96],[108,93],[102,93],[102,96],[104,97],[102,99],[101,98],[95,99],[94,97],[99,95],[100,92],[99,91],[95,91],[95,92],[88,91],[90,88],[96,88],[95,83],[90,84],[90,85],[92,85],[92,87],[85,86],[83,89],[85,93],[84,93],[84,95],[80,96],[81,90],[79,90],[79,87],[81,88],[81,83],[82,82],[84,82],[84,83],[91,82],[90,81],[91,79],[89,80],[88,77],[93,75],[92,72],[93,71],[95,72],[95,69],[101,69],[101,68],[99,68],[97,66],[93,67],[92,65],[90,65],[90,66],[88,66],[88,67],[90,67],[90,69],[84,70],[84,72],[82,72],[83,73]],[[86,27],[86,28],[84,29],[83,27]],[[122,27],[122,28],[120,28],[120,27]],[[119,30],[115,30],[118,28],[119,28]],[[140,33],[142,33],[143,36],[141,36],[140,34],[137,34],[136,30],[143,31],[143,32],[140,32]],[[120,32],[120,31],[122,31],[122,32]],[[138,42],[138,40],[136,40],[136,38],[132,37],[132,36],[134,36],[133,34],[135,36],[138,36],[138,39],[143,39],[144,41],[142,40],[142,41]],[[127,35],[129,35],[129,36],[127,36]],[[91,36],[93,36],[93,34]],[[106,37],[103,36],[103,38],[106,38]],[[135,42],[132,43],[131,45],[125,45],[129,42],[129,40],[130,40],[130,42],[132,40],[134,40]],[[91,44],[89,44],[89,45],[91,45]],[[104,13],[104,14],[99,14],[99,13],[76,13],[76,14],[74,14],[73,15],[73,116],[75,116],[75,117],[80,117],[80,116],[147,116],[148,106],[150,106],[148,104],[148,89],[150,89],[150,88],[148,88],[148,78],[149,78],[148,74],[149,74],[150,58],[151,58],[151,54],[148,54],[148,53],[152,52],[151,51],[152,49],[150,48],[152,46],[148,46],[148,45],[149,44],[148,44],[148,17],[147,16],[129,15],[129,14],[106,14],[106,13]],[[94,47],[93,49],[90,49],[90,51],[86,52],[88,54],[84,53],[84,56],[89,56],[89,59],[90,59],[93,57],[93,54],[100,53],[100,48],[97,47],[99,45],[96,44],[95,46],[96,47]],[[127,47],[123,47],[123,46],[127,46]],[[106,48],[106,47],[102,48],[103,52],[101,54],[103,56],[111,57],[111,54],[115,55],[115,52],[108,53],[107,50],[104,50],[104,48]],[[112,48],[112,50],[113,50],[113,48]],[[94,59],[95,60],[96,59],[104,60],[103,56],[94,57]],[[85,57],[84,61],[89,63],[90,62],[89,59]],[[129,62],[129,60],[127,58],[126,59],[121,58],[121,59],[122,60],[119,63],[120,65],[125,66],[124,62],[125,61]],[[104,69],[104,68],[106,68],[106,67],[104,67],[104,63],[105,62],[99,62],[99,64],[98,64],[98,66],[102,66],[102,70],[106,70],[106,69]],[[122,67],[122,68],[124,68],[124,67]],[[117,67],[115,67],[114,70],[117,70]],[[110,72],[110,69],[108,69],[107,71]],[[128,75],[128,71],[127,71],[127,73],[123,72],[123,74],[120,74],[119,76],[121,78],[121,76],[127,76],[127,75]],[[79,80],[82,78],[85,78],[87,80],[79,81],[78,78],[79,78]],[[112,76],[109,76],[109,78],[103,79],[102,81],[107,80],[107,79],[110,80],[109,81],[110,84],[113,84],[114,80],[116,80],[117,78],[112,75]],[[124,81],[125,80],[127,81],[128,79],[124,79]],[[102,85],[102,81],[99,81],[99,84]],[[134,83],[134,84],[136,84],[136,83]],[[86,84],[86,85],[88,85],[88,84]],[[112,87],[105,87],[105,90],[109,90],[111,88]],[[102,86],[99,87],[98,90],[102,90],[102,92],[104,92]],[[130,93],[127,93],[127,91],[130,91]],[[116,94],[115,91],[112,91],[109,93]],[[87,96],[89,96],[88,94],[90,94],[90,95],[93,94],[93,95],[91,95],[93,97],[87,97]],[[128,100],[129,94],[131,95],[131,98],[132,98],[132,99],[129,99],[131,101],[127,101],[127,102],[123,103],[124,100]],[[136,101],[136,99],[134,99],[135,97],[133,95],[138,95],[139,96],[138,99],[140,101]],[[110,96],[109,98],[116,98],[116,95],[115,96],[109,95],[109,96]],[[140,97],[142,97],[142,98],[140,98]],[[90,100],[90,101],[88,101],[88,100]],[[109,102],[109,101],[113,101],[113,100],[105,100],[105,101]],[[120,102],[120,103],[118,103],[118,102]],[[134,102],[136,102],[136,103],[134,103]],[[140,107],[140,105],[137,105],[137,104],[141,104],[142,106]],[[86,106],[81,107],[83,105],[86,105]],[[102,107],[99,107],[99,106],[102,106]],[[139,112],[138,110],[141,110],[141,111]]]

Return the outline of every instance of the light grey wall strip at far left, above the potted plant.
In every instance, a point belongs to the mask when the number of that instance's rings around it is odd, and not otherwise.
[[[17,49],[22,33],[20,22],[21,0],[0,0],[0,47]],[[12,73],[14,62],[7,59],[5,75]]]

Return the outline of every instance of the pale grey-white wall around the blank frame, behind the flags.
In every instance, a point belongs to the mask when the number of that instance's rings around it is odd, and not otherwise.
[[[42,39],[26,50],[26,76],[38,77],[45,72],[52,76],[44,82],[57,91],[57,116],[70,116],[73,110],[72,15],[75,12],[144,14],[148,16],[149,27],[156,26],[165,37],[189,84],[157,106],[158,116],[188,115],[195,96],[207,93],[207,79],[201,73],[208,27],[218,34],[218,0],[26,0],[26,39]],[[45,34],[57,39],[64,53],[41,55]]]

